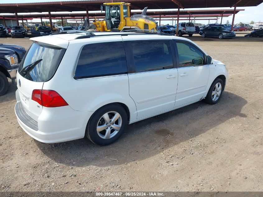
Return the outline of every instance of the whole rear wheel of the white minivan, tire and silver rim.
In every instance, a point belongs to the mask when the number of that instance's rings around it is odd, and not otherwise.
[[[109,145],[123,134],[127,123],[128,118],[124,108],[118,104],[110,104],[92,115],[87,124],[86,136],[95,144]]]

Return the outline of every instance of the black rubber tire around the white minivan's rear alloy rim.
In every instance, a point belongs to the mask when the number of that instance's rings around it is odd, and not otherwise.
[[[120,127],[120,130],[117,132],[117,134],[115,134],[115,136],[109,139],[103,139],[97,133],[97,125],[100,124],[101,120],[104,121],[104,119],[102,119],[102,116],[104,114],[106,114],[107,112],[112,112],[112,111],[120,114],[120,117],[122,120],[121,127]],[[87,128],[86,128],[86,137],[95,144],[98,144],[101,146],[109,145],[111,143],[114,143],[123,134],[123,132],[126,129],[127,123],[128,123],[127,113],[122,106],[120,106],[119,104],[110,104],[110,105],[104,106],[100,108],[99,110],[97,110],[90,118],[87,124]],[[103,122],[101,125],[104,125],[104,124],[106,125],[107,123]],[[106,133],[106,129],[101,132]]]

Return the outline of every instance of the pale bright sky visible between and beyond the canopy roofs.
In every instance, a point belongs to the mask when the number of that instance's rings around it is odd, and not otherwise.
[[[51,1],[59,1],[59,0],[10,0],[8,1],[8,3],[29,3],[29,2],[51,2]],[[67,1],[67,0],[63,0],[63,1]],[[124,1],[125,2],[125,1]],[[0,3],[6,3],[5,0],[0,0]],[[227,8],[204,8],[204,9],[230,9],[229,7]],[[235,16],[235,23],[237,22],[250,22],[250,21],[255,21],[255,22],[263,22],[263,3],[261,3],[260,5],[258,5],[257,7],[237,7],[237,9],[245,9],[245,11],[240,11],[236,14]],[[98,8],[99,10],[99,8]],[[230,23],[232,22],[232,16],[228,16],[228,17],[223,17],[223,23],[226,23],[227,20],[230,21]],[[38,19],[34,19],[35,22],[38,22]],[[208,21],[198,21],[195,20],[196,23],[204,23],[207,24]],[[214,21],[215,22],[215,21]],[[220,20],[218,20],[218,22],[220,23]],[[171,21],[161,21],[161,23],[163,24],[167,24],[167,23],[171,23]]]

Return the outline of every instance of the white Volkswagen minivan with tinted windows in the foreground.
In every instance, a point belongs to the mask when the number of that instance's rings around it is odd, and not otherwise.
[[[73,30],[31,40],[15,113],[43,143],[113,143],[127,124],[202,99],[217,103],[228,79],[225,64],[176,36]]]

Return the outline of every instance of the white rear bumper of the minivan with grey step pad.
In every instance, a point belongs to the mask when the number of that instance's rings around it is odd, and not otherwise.
[[[54,108],[43,107],[38,122],[26,114],[21,102],[16,103],[15,113],[21,128],[42,143],[66,142],[85,136],[86,125],[93,112],[75,111],[70,106]]]

